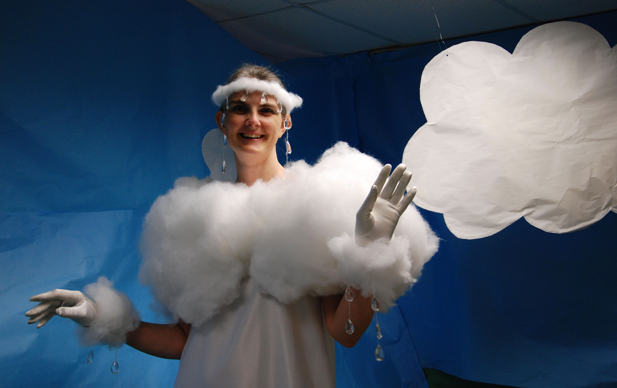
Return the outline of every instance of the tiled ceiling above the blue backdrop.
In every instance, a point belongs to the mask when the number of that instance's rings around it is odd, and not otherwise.
[[[273,62],[617,10],[617,0],[187,0]],[[439,30],[437,22],[439,20]]]

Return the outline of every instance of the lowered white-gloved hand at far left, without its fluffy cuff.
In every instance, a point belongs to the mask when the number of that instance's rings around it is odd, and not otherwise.
[[[30,297],[30,301],[40,302],[34,309],[26,313],[26,317],[30,317],[28,324],[38,322],[37,328],[48,323],[54,315],[70,318],[84,327],[92,326],[98,317],[97,304],[81,291],[54,289]]]

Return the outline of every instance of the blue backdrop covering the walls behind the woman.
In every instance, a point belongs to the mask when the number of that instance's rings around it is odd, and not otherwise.
[[[617,42],[617,14],[581,21]],[[529,28],[479,36],[510,51]],[[204,177],[210,93],[239,63],[265,63],[183,0],[0,2],[0,381],[12,387],[170,387],[178,362],[82,348],[72,321],[25,325],[33,294],[105,275],[144,320],[168,321],[137,283],[143,216],[180,176]],[[470,40],[470,39],[467,39]],[[453,42],[449,42],[453,44]],[[305,98],[293,158],[346,140],[399,163],[424,124],[418,88],[437,44],[277,65]],[[283,155],[281,155],[283,157]],[[426,387],[422,367],[524,387],[617,381],[617,217],[552,235],[523,220],[481,240],[442,238],[398,309],[337,347],[342,387]],[[94,363],[86,356],[94,351]]]

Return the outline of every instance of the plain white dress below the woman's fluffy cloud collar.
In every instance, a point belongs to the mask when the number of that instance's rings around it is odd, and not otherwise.
[[[249,277],[238,299],[191,328],[174,387],[334,388],[335,372],[320,299],[282,304]]]

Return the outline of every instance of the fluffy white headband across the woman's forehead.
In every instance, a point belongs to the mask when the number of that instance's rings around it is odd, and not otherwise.
[[[247,92],[262,91],[268,95],[273,95],[281,105],[287,108],[288,112],[302,106],[302,97],[286,91],[278,82],[247,77],[238,78],[226,85],[219,85],[217,90],[212,93],[212,102],[220,107],[226,97],[244,90]]]

